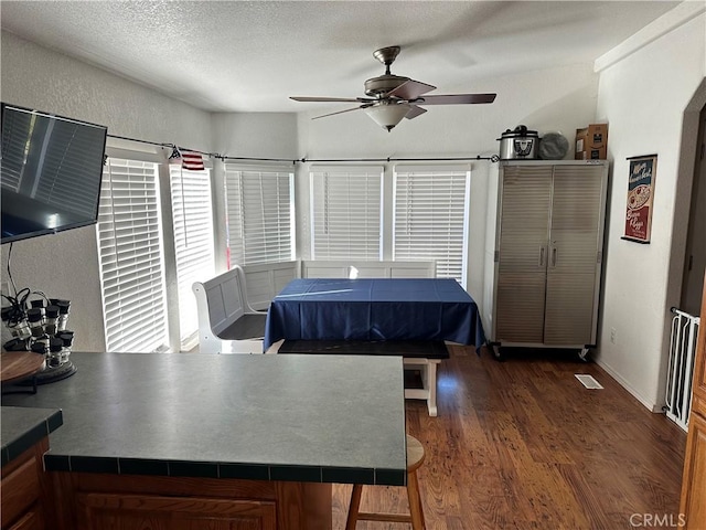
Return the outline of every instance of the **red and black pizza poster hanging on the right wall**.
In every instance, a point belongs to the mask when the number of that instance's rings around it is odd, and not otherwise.
[[[631,157],[623,240],[650,243],[657,156]]]

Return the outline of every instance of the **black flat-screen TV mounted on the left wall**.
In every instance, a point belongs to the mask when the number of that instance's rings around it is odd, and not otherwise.
[[[107,128],[2,104],[2,243],[96,223]]]

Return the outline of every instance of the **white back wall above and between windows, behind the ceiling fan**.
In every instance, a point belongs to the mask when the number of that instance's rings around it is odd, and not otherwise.
[[[432,81],[432,80],[426,80]],[[472,87],[439,88],[435,93],[494,92],[491,105],[430,106],[413,120],[404,119],[387,132],[364,112],[352,112],[311,120],[327,112],[346,108],[322,106],[321,112],[301,114],[299,148],[307,159],[331,158],[436,158],[475,157],[499,152],[496,139],[505,129],[523,124],[539,135],[561,131],[573,144],[576,129],[595,118],[598,77],[588,64],[526,72],[485,81]],[[571,150],[567,158],[574,158]],[[385,178],[392,180],[393,163],[384,163]],[[468,290],[481,306],[483,300],[483,256],[488,221],[489,161],[471,162],[471,211]],[[302,257],[310,257],[309,165],[299,166],[298,222]],[[392,204],[386,204],[392,209]],[[391,210],[388,210],[391,211]],[[490,220],[494,223],[494,220]],[[389,256],[385,256],[389,258]]]

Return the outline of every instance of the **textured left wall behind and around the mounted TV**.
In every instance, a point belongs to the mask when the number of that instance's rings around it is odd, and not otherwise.
[[[108,134],[208,150],[208,113],[2,32],[2,100],[106,125]],[[7,279],[9,245],[2,245]],[[74,349],[105,350],[95,226],[15,242],[18,288],[72,300]]]

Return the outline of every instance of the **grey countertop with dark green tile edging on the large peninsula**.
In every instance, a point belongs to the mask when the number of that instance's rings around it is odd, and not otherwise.
[[[72,353],[47,470],[404,485],[399,357]],[[3,406],[4,439],[4,406]],[[4,443],[4,442],[3,442]]]

